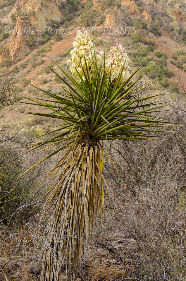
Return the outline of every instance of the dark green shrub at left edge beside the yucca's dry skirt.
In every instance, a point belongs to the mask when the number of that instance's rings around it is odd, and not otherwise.
[[[16,132],[21,128],[18,124],[14,129]],[[3,128],[2,128],[3,129]],[[20,174],[29,168],[28,159],[20,156],[21,145],[18,136],[11,136],[11,142],[2,137],[0,143],[0,222],[6,224],[10,220],[13,223],[20,223],[29,219],[33,202],[38,201],[39,194],[35,192],[34,186],[39,183],[37,177],[41,173],[37,170],[30,171],[26,177],[19,177]],[[38,182],[37,182],[38,181]],[[29,207],[30,205],[30,207]],[[25,207],[24,207],[25,206]],[[21,207],[21,208],[20,208]]]

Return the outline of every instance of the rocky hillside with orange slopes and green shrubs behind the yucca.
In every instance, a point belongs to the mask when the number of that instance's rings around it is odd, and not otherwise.
[[[131,58],[131,66],[143,64],[141,74],[154,82],[154,90],[175,95],[179,87],[186,89],[185,12],[183,0],[1,1],[0,74],[15,77],[18,92],[22,94],[40,95],[23,80],[59,91],[61,81],[47,65],[56,70],[53,59],[67,68],[75,29],[82,24],[90,27],[99,50],[104,50],[104,44],[109,47],[119,37]],[[7,121],[17,117],[12,111]],[[25,121],[28,128],[37,125],[30,124],[23,114],[12,127]]]

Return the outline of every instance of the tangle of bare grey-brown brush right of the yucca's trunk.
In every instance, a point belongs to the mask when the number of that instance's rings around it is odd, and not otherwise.
[[[185,108],[179,102],[166,113],[166,119],[184,125]],[[171,141],[144,142],[152,153],[134,143],[108,144],[125,184],[108,160],[106,177],[120,211],[108,203],[104,231],[117,229],[118,235],[128,234],[137,240],[140,256],[136,259],[133,255],[133,268],[126,280],[143,280],[145,276],[185,280],[185,126],[175,131]]]

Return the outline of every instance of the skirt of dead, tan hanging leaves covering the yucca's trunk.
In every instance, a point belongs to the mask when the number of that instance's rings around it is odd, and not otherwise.
[[[100,147],[79,144],[52,187],[44,205],[49,212],[52,209],[52,214],[41,253],[41,281],[60,281],[64,262],[66,274],[75,280],[82,246],[92,232],[97,207],[101,218],[99,170],[102,170]]]

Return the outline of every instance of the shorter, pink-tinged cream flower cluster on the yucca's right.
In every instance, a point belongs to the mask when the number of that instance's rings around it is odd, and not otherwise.
[[[117,79],[118,75],[121,73],[123,64],[125,64],[123,68],[123,73],[120,79],[120,83],[123,83],[126,79],[130,77],[130,59],[127,56],[127,52],[125,52],[125,48],[122,46],[121,42],[118,39],[115,39],[116,42],[113,44],[108,54],[106,54],[105,60],[105,73],[109,75],[111,66],[111,80]]]

